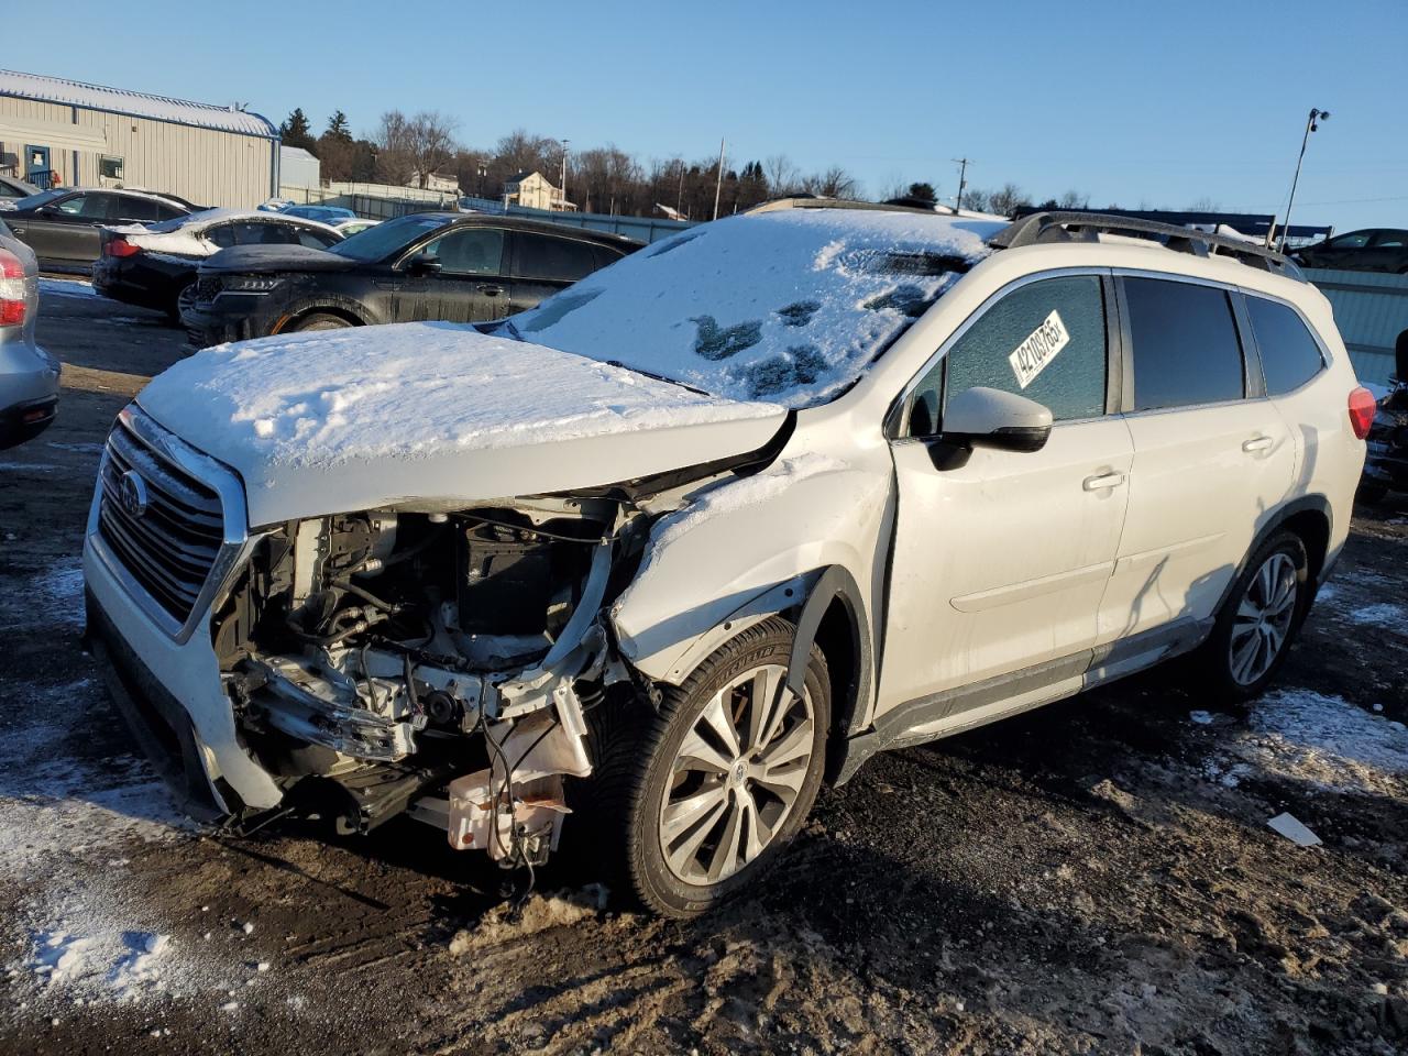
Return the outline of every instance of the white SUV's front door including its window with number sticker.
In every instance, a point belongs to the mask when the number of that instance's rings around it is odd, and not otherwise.
[[[929,701],[938,721],[1021,691],[967,693],[972,683],[1035,667],[1041,686],[1088,666],[1133,460],[1129,429],[1110,413],[1119,391],[1111,303],[1110,279],[1095,273],[1015,283],[914,386],[891,439],[898,508],[881,708]],[[974,446],[964,465],[946,462],[943,406],[974,386],[1048,407],[1045,448]]]

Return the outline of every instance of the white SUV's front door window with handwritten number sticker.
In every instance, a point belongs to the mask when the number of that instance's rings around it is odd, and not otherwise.
[[[977,386],[1035,400],[1055,421],[1094,418],[1105,413],[1108,370],[1100,277],[1042,279],[993,304],[929,370],[908,435],[938,432],[945,400]]]

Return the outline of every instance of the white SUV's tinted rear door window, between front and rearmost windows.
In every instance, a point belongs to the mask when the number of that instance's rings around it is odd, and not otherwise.
[[[1246,394],[1242,342],[1225,290],[1167,279],[1122,282],[1136,411],[1222,403]]]

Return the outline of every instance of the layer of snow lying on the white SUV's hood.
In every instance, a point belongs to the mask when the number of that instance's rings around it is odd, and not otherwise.
[[[237,467],[414,459],[779,414],[448,322],[220,345],[156,377],[138,403]]]

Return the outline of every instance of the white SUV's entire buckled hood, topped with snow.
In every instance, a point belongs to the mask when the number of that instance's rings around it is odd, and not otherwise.
[[[137,403],[239,473],[253,527],[597,487],[745,455],[787,421],[448,322],[218,345]]]

